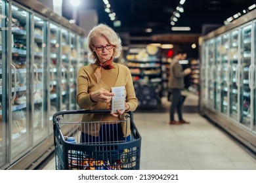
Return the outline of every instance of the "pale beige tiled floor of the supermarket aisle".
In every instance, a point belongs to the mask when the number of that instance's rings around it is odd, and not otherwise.
[[[142,170],[256,170],[256,159],[224,131],[198,114],[197,95],[184,103],[190,124],[169,125],[169,105],[163,98],[157,110],[137,110],[134,121],[142,136]],[[43,168],[55,169],[54,158]]]

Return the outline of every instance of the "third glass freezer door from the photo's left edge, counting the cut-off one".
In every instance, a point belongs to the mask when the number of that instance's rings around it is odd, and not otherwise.
[[[33,144],[43,141],[47,135],[44,120],[45,114],[45,26],[46,21],[38,16],[33,16]]]

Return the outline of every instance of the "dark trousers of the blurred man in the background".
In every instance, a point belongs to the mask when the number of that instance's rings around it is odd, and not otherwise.
[[[171,107],[170,107],[170,120],[174,120],[175,110],[177,110],[179,120],[182,120],[182,103],[184,100],[181,96],[181,89],[172,89],[171,90]]]

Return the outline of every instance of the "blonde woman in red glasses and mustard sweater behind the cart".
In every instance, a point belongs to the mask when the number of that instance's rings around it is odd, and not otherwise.
[[[87,43],[89,59],[93,60],[94,63],[83,66],[78,71],[77,105],[88,110],[110,110],[110,101],[114,96],[114,93],[110,90],[115,86],[125,86],[126,102],[125,111],[84,114],[82,121],[124,120],[123,113],[134,111],[138,106],[138,100],[135,96],[130,70],[125,65],[113,61],[121,54],[121,39],[108,25],[99,24],[89,32]],[[108,134],[106,134],[106,131]],[[117,139],[122,141],[126,138],[125,136],[129,139],[130,133],[129,124],[126,125],[123,122],[112,124],[112,127],[103,124],[84,125],[81,129],[81,142],[117,141]],[[110,140],[109,138],[114,139]]]

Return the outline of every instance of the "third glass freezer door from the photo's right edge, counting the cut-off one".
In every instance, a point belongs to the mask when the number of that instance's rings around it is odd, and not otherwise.
[[[229,71],[229,84],[230,84],[230,116],[234,120],[238,120],[238,86],[236,86],[236,71],[238,67],[238,30],[231,32],[230,36],[230,71]]]

